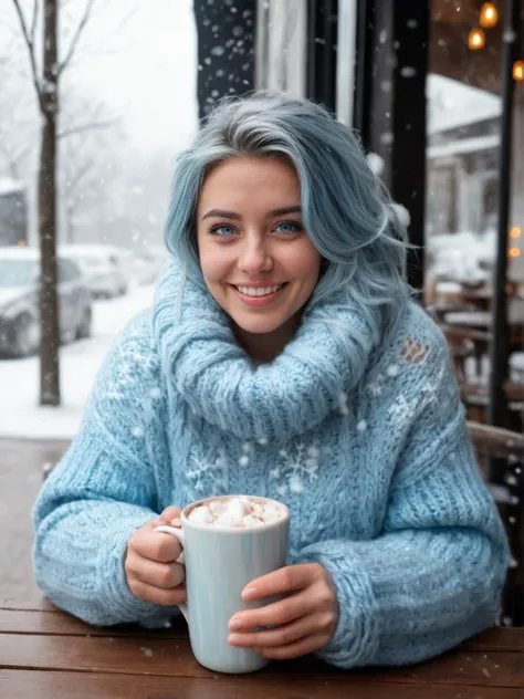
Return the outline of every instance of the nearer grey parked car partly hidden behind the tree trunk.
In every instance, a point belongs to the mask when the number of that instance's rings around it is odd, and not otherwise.
[[[0,248],[0,352],[23,357],[40,345],[40,252]],[[62,342],[91,335],[92,295],[78,265],[57,258],[57,293]]]

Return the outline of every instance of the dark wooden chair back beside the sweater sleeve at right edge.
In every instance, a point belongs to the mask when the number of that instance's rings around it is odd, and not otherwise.
[[[468,422],[468,431],[512,551],[502,620],[503,624],[524,626],[524,436],[473,421]]]

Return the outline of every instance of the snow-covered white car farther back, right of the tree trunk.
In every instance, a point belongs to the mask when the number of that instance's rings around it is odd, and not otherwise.
[[[127,293],[129,272],[117,248],[72,243],[61,246],[60,251],[81,267],[93,298],[115,299]]]

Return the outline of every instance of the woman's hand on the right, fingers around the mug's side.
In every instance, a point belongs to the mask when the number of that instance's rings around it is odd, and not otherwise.
[[[251,582],[242,599],[253,602],[282,594],[286,596],[279,602],[231,617],[229,628],[233,633],[228,643],[279,660],[324,648],[338,620],[338,601],[327,571],[319,563],[280,568]],[[254,630],[261,626],[276,628]]]

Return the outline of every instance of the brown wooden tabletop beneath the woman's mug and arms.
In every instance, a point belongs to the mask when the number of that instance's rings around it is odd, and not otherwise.
[[[185,624],[94,628],[51,604],[0,601],[2,699],[522,699],[524,628],[492,628],[429,663],[343,671],[311,657],[253,675],[210,672]]]

